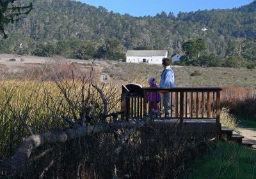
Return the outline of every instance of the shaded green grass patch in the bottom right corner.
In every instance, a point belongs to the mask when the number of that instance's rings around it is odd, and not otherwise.
[[[216,143],[215,150],[193,162],[189,179],[255,178],[256,152],[234,143]]]

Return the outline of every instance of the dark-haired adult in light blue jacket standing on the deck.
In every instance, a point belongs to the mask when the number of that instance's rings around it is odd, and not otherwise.
[[[163,58],[162,64],[163,64],[163,73],[161,74],[161,80],[160,80],[160,87],[174,87],[174,73],[172,68],[170,67],[170,59]],[[163,92],[163,106],[165,111],[165,117],[169,118],[171,117],[171,110],[172,110],[172,104],[171,104],[171,94],[170,92]]]

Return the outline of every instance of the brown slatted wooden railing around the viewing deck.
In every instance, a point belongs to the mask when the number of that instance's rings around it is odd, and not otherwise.
[[[220,123],[220,87],[144,87],[143,94],[122,96],[124,117],[142,118],[147,112],[147,92],[170,92],[171,113],[169,118],[179,118],[180,122],[189,118],[215,118]],[[156,97],[155,97],[156,99]],[[161,97],[162,99],[162,97]],[[162,100],[159,103],[163,109]],[[161,118],[161,117],[159,117]]]

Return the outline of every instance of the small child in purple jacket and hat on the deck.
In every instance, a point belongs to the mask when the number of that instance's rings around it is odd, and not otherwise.
[[[148,84],[150,88],[157,88],[156,78],[149,78]],[[147,92],[147,101],[149,110],[159,110],[160,92]]]

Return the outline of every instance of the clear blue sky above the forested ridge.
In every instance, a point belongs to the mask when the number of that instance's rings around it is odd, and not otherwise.
[[[171,11],[175,16],[181,12],[238,8],[253,0],[76,0],[95,7],[103,6],[115,13],[129,13],[132,16],[155,16],[161,11]]]

